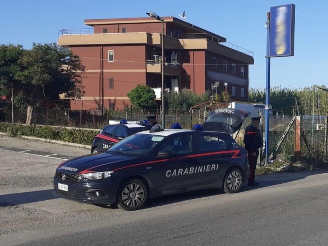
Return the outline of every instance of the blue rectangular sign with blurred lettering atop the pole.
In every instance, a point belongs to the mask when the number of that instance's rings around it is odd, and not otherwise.
[[[294,56],[295,5],[270,8],[269,56]]]

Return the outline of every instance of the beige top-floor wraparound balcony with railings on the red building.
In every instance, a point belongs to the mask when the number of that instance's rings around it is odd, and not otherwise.
[[[161,46],[160,28],[124,28],[124,31],[117,31],[115,28],[62,29],[58,32],[58,45],[148,44]],[[166,33],[165,30],[164,33]],[[164,49],[209,50],[246,64],[254,64],[252,51],[224,41],[207,33],[179,34],[178,39],[165,35]]]

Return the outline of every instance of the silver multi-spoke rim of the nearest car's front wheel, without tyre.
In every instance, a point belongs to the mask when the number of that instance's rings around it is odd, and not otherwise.
[[[122,201],[128,207],[136,207],[145,199],[145,190],[141,185],[128,184],[122,192]]]

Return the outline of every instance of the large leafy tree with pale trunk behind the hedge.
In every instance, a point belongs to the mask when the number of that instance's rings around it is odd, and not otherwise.
[[[82,76],[85,71],[80,58],[66,47],[35,44],[25,50],[18,64],[24,69],[15,75],[20,81],[19,96],[27,105],[26,124],[32,120],[32,108],[38,100],[80,99],[84,94]]]

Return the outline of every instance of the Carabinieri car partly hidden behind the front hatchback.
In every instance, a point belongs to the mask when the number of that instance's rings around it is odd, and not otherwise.
[[[114,121],[109,122],[112,123]],[[92,139],[91,153],[106,151],[109,147],[123,138],[141,132],[145,125],[146,122],[144,121],[134,122],[122,119],[119,123],[117,122],[117,124],[104,126]]]

